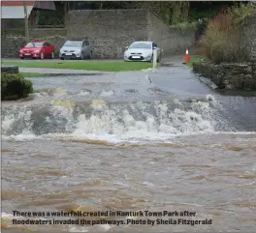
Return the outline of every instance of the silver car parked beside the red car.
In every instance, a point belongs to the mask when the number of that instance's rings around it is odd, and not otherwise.
[[[88,40],[69,40],[59,50],[59,58],[64,59],[91,59],[92,48]]]

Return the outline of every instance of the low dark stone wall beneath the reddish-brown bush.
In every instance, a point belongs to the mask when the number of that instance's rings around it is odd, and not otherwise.
[[[256,63],[194,63],[193,71],[209,78],[219,89],[256,90]]]

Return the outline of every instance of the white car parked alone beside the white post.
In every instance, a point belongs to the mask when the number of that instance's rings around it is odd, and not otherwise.
[[[161,49],[153,42],[134,42],[127,46],[124,52],[124,61],[151,62],[154,49],[157,51],[157,62],[160,62]]]

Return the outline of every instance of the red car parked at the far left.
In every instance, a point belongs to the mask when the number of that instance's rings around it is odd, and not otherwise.
[[[24,58],[54,58],[54,45],[46,41],[32,41],[22,47],[19,51],[20,59]]]

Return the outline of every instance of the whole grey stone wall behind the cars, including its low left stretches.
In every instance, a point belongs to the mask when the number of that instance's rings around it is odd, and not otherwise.
[[[18,28],[2,28],[2,57],[18,57],[19,48],[25,44],[24,27]],[[125,46],[134,41],[154,41],[169,54],[183,54],[186,46],[194,42],[194,29],[169,27],[142,9],[71,11],[66,17],[66,28],[32,28],[31,39],[48,40],[58,55],[67,38],[88,37],[94,58],[123,58]]]

